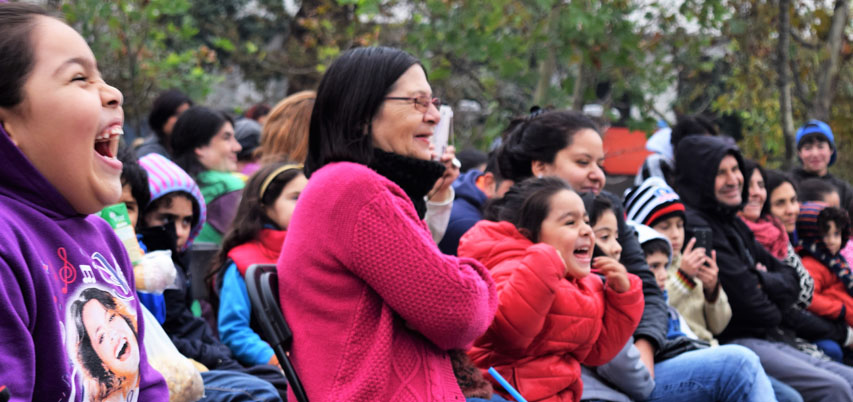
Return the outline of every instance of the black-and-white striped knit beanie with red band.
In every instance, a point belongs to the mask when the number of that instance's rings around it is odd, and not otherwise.
[[[646,226],[673,216],[685,218],[678,194],[660,177],[649,177],[625,196],[625,217]]]

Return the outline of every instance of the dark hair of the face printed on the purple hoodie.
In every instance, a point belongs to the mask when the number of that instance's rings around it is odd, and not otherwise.
[[[90,391],[96,393],[97,398],[103,399],[109,395],[109,391],[121,386],[120,382],[122,379],[118,378],[115,373],[110,371],[104,365],[101,358],[98,357],[98,353],[95,352],[95,349],[92,346],[92,339],[89,338],[89,332],[86,331],[86,324],[83,322],[83,307],[85,307],[86,303],[91,300],[97,301],[108,311],[117,312],[118,316],[127,323],[128,327],[130,327],[130,330],[133,332],[133,337],[137,342],[139,342],[139,335],[136,332],[136,320],[133,319],[133,317],[128,316],[125,311],[122,311],[124,309],[116,303],[116,299],[113,295],[105,290],[94,287],[87,288],[80,292],[80,296],[77,297],[77,300],[71,303],[71,317],[74,319],[74,327],[77,330],[77,336],[79,337],[77,358],[89,375],[98,380],[98,389]]]

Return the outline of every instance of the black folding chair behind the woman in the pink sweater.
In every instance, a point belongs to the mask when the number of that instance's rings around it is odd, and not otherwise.
[[[252,302],[252,312],[261,329],[261,336],[272,346],[290,390],[299,402],[308,402],[302,382],[290,362],[287,352],[293,345],[293,332],[284,320],[278,300],[278,274],[273,264],[254,264],[246,271],[246,290]]]

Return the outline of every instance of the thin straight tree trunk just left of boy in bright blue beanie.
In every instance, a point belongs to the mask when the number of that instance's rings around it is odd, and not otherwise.
[[[779,74],[779,113],[782,125],[782,137],[785,139],[785,160],[783,168],[790,169],[794,161],[794,116],[791,106],[791,0],[779,0],[779,47],[776,55],[776,68]]]

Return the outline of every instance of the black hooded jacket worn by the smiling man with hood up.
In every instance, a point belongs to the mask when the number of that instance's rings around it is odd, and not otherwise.
[[[687,207],[687,238],[697,227],[711,229],[719,281],[732,307],[732,320],[719,339],[726,342],[740,337],[767,338],[778,332],[783,311],[796,300],[798,278],[793,268],[755,240],[749,227],[737,217],[740,206],[723,205],[714,195],[720,162],[731,154],[743,166],[740,151],[716,137],[694,136],[682,140],[676,152],[676,183]],[[744,186],[744,201],[746,193]],[[767,271],[757,270],[757,263]]]

